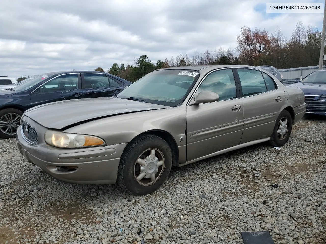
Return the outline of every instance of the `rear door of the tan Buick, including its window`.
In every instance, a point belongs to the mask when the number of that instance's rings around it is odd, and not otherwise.
[[[244,112],[241,143],[270,137],[284,104],[284,93],[266,73],[243,68],[237,71]]]

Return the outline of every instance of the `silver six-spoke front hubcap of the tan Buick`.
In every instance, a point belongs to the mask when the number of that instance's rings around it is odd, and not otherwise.
[[[164,156],[156,148],[150,148],[141,153],[138,157],[134,176],[141,185],[151,185],[160,178],[164,169]]]

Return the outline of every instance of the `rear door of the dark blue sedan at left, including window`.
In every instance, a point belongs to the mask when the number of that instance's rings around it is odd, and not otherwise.
[[[82,98],[111,97],[122,91],[123,85],[109,75],[82,73]]]

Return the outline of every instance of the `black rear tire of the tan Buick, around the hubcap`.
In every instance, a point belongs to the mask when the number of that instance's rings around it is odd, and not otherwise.
[[[277,130],[278,130],[278,127],[279,127],[279,123],[283,118],[286,118],[287,121],[288,121],[288,127],[287,127],[288,131],[285,134],[285,136],[283,137],[283,139],[280,139],[278,137],[278,135],[277,135]],[[272,136],[271,136],[270,144],[272,146],[275,146],[275,147],[283,146],[289,140],[289,137],[291,135],[291,131],[292,131],[292,117],[291,117],[289,111],[283,110],[280,113],[280,115],[278,115],[278,118],[276,120],[274,130],[273,130],[273,133],[272,133]]]

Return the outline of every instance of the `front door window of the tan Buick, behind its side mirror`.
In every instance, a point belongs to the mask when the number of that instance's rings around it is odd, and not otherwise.
[[[231,69],[218,70],[209,74],[198,88],[198,92],[213,91],[219,96],[218,101],[237,97],[235,81]]]

